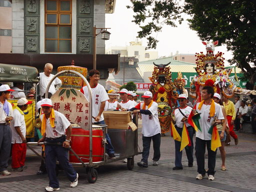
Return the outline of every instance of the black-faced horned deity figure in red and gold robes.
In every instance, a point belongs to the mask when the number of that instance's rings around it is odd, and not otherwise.
[[[170,63],[170,62],[169,62]],[[149,77],[152,85],[149,90],[153,94],[153,101],[158,104],[158,118],[161,126],[161,134],[164,135],[170,129],[170,119],[172,108],[176,107],[178,93],[171,81],[170,67],[167,64],[155,65],[152,77]]]

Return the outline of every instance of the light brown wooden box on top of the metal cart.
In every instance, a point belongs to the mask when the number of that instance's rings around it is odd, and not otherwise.
[[[131,127],[132,130],[137,128],[132,122],[130,111],[105,110],[103,115],[107,128],[128,129]]]

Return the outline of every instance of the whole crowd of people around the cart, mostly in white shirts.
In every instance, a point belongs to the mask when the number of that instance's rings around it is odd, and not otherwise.
[[[70,187],[75,187],[78,183],[78,173],[73,169],[68,162],[68,147],[71,138],[71,125],[67,118],[60,112],[55,111],[50,100],[50,95],[54,94],[61,86],[61,80],[55,78],[49,88],[48,97],[45,97],[45,90],[48,82],[53,77],[52,64],[46,63],[44,72],[39,73],[39,92],[42,100],[36,103],[36,111],[41,119],[42,138],[38,142],[46,141],[45,145],[45,165],[49,177],[49,186],[45,187],[46,191],[59,189],[59,183],[55,172],[55,162],[58,159],[61,167],[66,172],[70,180]],[[148,166],[148,156],[150,142],[153,142],[153,165],[158,165],[160,158],[160,140],[161,128],[158,119],[157,103],[153,101],[153,95],[150,91],[145,91],[141,96],[143,102],[137,102],[137,94],[122,88],[120,91],[106,91],[102,85],[98,83],[100,73],[98,70],[92,69],[88,72],[89,85],[92,91],[92,122],[95,124],[105,124],[103,110],[122,110],[139,113],[142,119],[142,158],[137,162],[138,166]],[[80,92],[88,98],[88,88],[83,86]],[[23,92],[23,83],[15,82],[13,87],[7,84],[0,86],[0,173],[3,175],[11,174],[7,170],[9,154],[12,155],[12,171],[22,171],[27,167],[25,163],[26,155],[26,126],[24,121],[24,113],[27,105],[35,97],[35,88],[32,87],[27,95]],[[121,101],[117,101],[116,96],[120,95]],[[17,99],[17,107],[12,110],[11,104],[7,99]],[[205,174],[208,174],[208,180],[214,180],[215,173],[215,158],[217,149],[211,147],[212,133],[210,129],[216,126],[220,145],[221,154],[221,170],[226,170],[225,167],[225,145],[230,145],[226,142],[230,135],[234,139],[234,143],[238,144],[238,137],[234,130],[241,131],[243,124],[250,121],[253,134],[256,133],[256,98],[250,102],[239,99],[239,95],[235,96],[235,103],[228,100],[227,97],[221,97],[214,92],[211,86],[203,86],[201,89],[201,101],[195,103],[194,106],[188,100],[187,95],[179,94],[177,97],[179,106],[173,111],[171,121],[174,124],[177,134],[182,137],[183,129],[187,130],[188,144],[185,147],[185,152],[188,160],[188,167],[193,166],[193,149],[195,149],[195,157],[197,163],[196,179],[202,179]],[[248,106],[246,105],[248,104]],[[188,122],[188,117],[199,114],[198,123],[199,130],[195,131],[193,124]],[[195,145],[193,144],[193,135],[195,133]],[[106,153],[109,158],[115,158],[114,147],[111,144],[111,139],[106,133]],[[181,140],[175,139],[175,166],[173,170],[183,169],[181,163],[182,149]],[[53,144],[52,144],[53,143]],[[60,143],[60,144],[59,144]],[[12,145],[12,147],[11,147]],[[205,146],[208,151],[208,169],[204,167]]]

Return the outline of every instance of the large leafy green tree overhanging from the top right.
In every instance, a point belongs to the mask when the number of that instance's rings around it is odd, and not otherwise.
[[[162,24],[176,26],[184,13],[190,16],[189,27],[201,40],[218,40],[232,51],[228,60],[242,69],[249,79],[247,88],[256,81],[256,3],[253,0],[130,0],[133,17],[141,28],[138,37],[146,37],[147,48],[155,48]],[[181,14],[183,13],[183,14]],[[148,21],[149,20],[149,21]]]

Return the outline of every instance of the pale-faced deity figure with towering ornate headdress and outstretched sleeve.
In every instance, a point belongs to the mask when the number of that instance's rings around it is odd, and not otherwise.
[[[190,83],[190,96],[201,101],[201,90],[203,86],[212,86],[214,91],[231,98],[236,94],[256,94],[255,90],[242,89],[235,86],[229,78],[231,69],[224,69],[224,58],[222,52],[213,54],[212,50],[207,50],[206,54],[195,53],[196,72],[198,76],[194,77]]]

